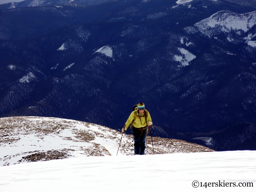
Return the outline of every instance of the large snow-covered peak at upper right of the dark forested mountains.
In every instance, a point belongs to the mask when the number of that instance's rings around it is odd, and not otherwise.
[[[206,33],[211,28],[220,27],[222,31],[230,31],[232,29],[241,29],[248,31],[256,24],[256,11],[244,14],[238,14],[230,11],[220,11],[211,17],[201,20],[195,24],[196,28]],[[209,34],[206,34],[209,36]]]

